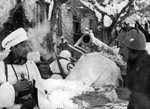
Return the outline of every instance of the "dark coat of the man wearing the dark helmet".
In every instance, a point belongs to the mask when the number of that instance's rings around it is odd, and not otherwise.
[[[150,109],[150,55],[143,51],[128,63],[128,88],[132,91],[128,109]]]

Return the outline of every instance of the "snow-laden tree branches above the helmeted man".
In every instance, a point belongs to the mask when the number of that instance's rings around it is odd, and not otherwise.
[[[149,5],[147,0],[80,0],[85,6],[95,13],[102,14],[101,27],[107,31],[108,40],[112,39],[112,30],[123,22],[130,21],[129,24],[134,24],[137,18],[147,16],[149,14]],[[96,14],[95,14],[96,15]],[[109,27],[104,27],[103,17],[107,15],[111,18],[112,23]],[[139,15],[139,17],[135,17]],[[134,17],[131,17],[134,16]],[[98,17],[98,16],[97,16]],[[132,21],[132,22],[131,22]],[[102,29],[100,30],[102,31]]]

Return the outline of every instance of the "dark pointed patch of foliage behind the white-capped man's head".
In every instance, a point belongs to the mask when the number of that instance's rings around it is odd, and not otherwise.
[[[20,27],[27,28],[31,26],[32,24],[26,18],[22,4],[17,4],[12,10],[10,10],[8,20],[3,23],[3,29],[0,31],[0,39],[3,40],[12,31]]]

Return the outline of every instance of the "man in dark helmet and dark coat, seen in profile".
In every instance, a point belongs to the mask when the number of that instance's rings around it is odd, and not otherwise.
[[[118,88],[120,99],[129,100],[128,109],[150,109],[150,55],[144,34],[124,27],[118,35],[119,54],[127,62],[127,88]]]

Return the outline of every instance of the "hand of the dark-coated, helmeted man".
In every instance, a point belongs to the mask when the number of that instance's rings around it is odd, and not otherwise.
[[[119,99],[129,100],[131,91],[128,88],[116,88],[116,93]]]

